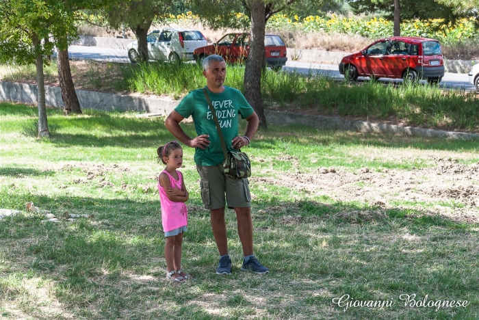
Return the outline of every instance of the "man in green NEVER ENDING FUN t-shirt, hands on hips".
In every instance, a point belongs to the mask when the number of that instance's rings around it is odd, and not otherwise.
[[[207,81],[207,92],[222,133],[226,149],[237,150],[250,144],[258,127],[258,116],[243,94],[223,85],[226,77],[226,63],[219,55],[209,55],[203,62],[203,75]],[[231,274],[231,259],[228,253],[224,208],[226,203],[234,209],[237,218],[239,240],[243,247],[242,270],[266,274],[268,268],[259,263],[253,255],[253,220],[251,219],[250,191],[248,179],[235,179],[224,175],[220,137],[211,116],[203,88],[193,90],[172,111],[165,121],[168,130],[186,146],[196,148],[194,161],[200,174],[201,198],[211,215],[211,228],[215,237],[220,263],[217,274]],[[246,133],[238,135],[238,117],[246,119]],[[197,136],[190,138],[181,129],[179,122],[192,116]],[[225,201],[226,195],[226,201]]]

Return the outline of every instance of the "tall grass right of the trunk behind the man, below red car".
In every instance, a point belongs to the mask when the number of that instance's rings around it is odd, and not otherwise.
[[[479,129],[479,98],[463,90],[443,91],[421,83],[385,84],[376,81],[334,81],[310,72],[267,72],[263,98],[280,105],[311,107],[331,115],[387,119],[391,116],[417,126]]]

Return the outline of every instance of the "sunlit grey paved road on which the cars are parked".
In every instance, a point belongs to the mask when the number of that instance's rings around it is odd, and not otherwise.
[[[70,46],[68,48],[68,54],[70,55],[70,59],[95,59],[129,63],[126,49],[109,49],[101,48],[99,46]],[[283,69],[291,72],[300,72],[306,75],[311,72],[313,75],[328,75],[333,79],[344,79],[344,76],[339,73],[336,64],[315,64],[313,62],[288,61]],[[370,81],[370,79],[359,77],[358,81]],[[402,83],[402,80],[398,79],[380,79],[379,81],[384,83]],[[422,81],[422,83],[425,82],[426,81]],[[467,75],[463,73],[446,72],[443,81],[441,81],[441,86],[447,89],[459,88],[466,91],[475,90],[474,85],[469,83]]]

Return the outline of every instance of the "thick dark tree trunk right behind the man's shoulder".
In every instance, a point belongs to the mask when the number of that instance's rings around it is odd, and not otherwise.
[[[244,96],[248,103],[255,109],[259,118],[259,126],[268,128],[261,98],[261,72],[264,52],[265,34],[265,6],[261,0],[250,2],[251,8],[251,41],[246,68],[244,70]]]

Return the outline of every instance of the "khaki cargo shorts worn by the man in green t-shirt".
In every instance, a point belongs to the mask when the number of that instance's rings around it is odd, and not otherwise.
[[[201,199],[206,209],[222,208],[226,202],[229,209],[251,206],[248,178],[225,176],[222,164],[196,165],[196,170],[200,174]]]

